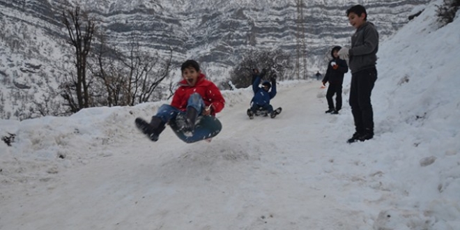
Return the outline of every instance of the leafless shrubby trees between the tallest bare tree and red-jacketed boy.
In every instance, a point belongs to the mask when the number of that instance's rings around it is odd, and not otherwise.
[[[104,35],[97,38],[89,70],[98,79],[93,88],[100,87],[102,95],[93,98],[99,98],[99,105],[125,106],[162,99],[165,89],[161,82],[169,77],[172,51],[169,60],[164,61],[158,54],[141,51],[136,36],[132,36],[128,54],[123,55],[107,45]]]

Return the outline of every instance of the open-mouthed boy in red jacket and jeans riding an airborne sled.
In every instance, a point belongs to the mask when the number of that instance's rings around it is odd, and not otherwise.
[[[194,60],[187,60],[181,66],[182,81],[174,93],[171,105],[164,104],[150,123],[136,118],[136,126],[152,141],[158,141],[164,125],[171,119],[184,132],[193,132],[195,121],[201,115],[212,115],[224,109],[225,100],[219,88],[206,79]]]

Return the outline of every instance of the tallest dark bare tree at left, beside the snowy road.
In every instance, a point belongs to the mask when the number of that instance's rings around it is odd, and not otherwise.
[[[69,84],[63,85],[63,98],[68,102],[72,112],[90,107],[89,85],[91,82],[86,79],[86,60],[91,50],[91,41],[95,33],[95,22],[89,19],[85,13],[81,13],[79,6],[74,10],[64,10],[62,13],[63,24],[68,30],[68,43],[75,48],[75,68],[77,74],[70,75]],[[82,21],[83,24],[82,24]],[[73,93],[76,95],[76,102]]]

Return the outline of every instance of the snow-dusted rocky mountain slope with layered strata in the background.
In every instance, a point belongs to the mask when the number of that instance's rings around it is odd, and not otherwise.
[[[61,13],[77,3],[97,18],[109,44],[128,49],[125,44],[136,36],[149,52],[162,55],[172,49],[177,63],[199,60],[216,81],[227,78],[250,49],[283,49],[293,61],[297,58],[296,1],[0,0],[0,118],[28,118],[31,108],[57,100],[53,97],[59,82],[72,71]],[[367,7],[368,20],[385,40],[427,0],[359,3]],[[304,1],[306,75],[324,68],[332,45],[348,45],[353,28],[345,10],[351,5],[342,0]]]

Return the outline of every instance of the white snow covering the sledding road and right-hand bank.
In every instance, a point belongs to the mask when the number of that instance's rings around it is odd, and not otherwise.
[[[337,115],[312,79],[278,83],[273,119],[223,91],[209,143],[135,128],[169,101],[0,120],[0,229],[458,229],[460,20],[438,28],[440,3],[381,41],[368,141],[346,143],[349,72]]]

